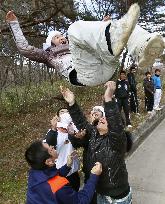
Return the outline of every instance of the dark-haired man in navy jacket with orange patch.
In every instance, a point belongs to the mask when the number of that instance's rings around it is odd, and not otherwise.
[[[31,166],[28,177],[27,204],[89,204],[102,172],[102,165],[96,162],[84,188],[76,192],[65,176],[69,173],[75,152],[68,156],[67,164],[56,169],[58,155],[53,146],[42,141],[33,142],[25,152]]]

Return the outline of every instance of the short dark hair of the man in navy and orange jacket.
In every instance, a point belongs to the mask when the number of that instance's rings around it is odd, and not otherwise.
[[[48,168],[45,161],[50,158],[48,150],[44,148],[42,141],[33,142],[25,152],[27,163],[36,170]]]

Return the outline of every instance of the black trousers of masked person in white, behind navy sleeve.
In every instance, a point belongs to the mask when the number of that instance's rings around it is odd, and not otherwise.
[[[67,179],[69,181],[69,184],[75,191],[79,191],[80,188],[80,176],[78,174],[78,171],[71,174],[70,176],[67,176]]]

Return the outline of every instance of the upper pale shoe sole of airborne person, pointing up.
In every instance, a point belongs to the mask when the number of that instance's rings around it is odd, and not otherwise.
[[[123,38],[121,40],[121,42],[119,43],[118,47],[116,48],[116,50],[113,50],[113,54],[115,56],[119,56],[124,47],[126,46],[127,42],[128,42],[128,39],[132,33],[132,31],[134,30],[135,26],[136,26],[136,23],[138,21],[138,18],[139,18],[139,15],[140,15],[140,7],[137,3],[131,5],[130,9],[128,10],[128,13],[125,14],[124,17],[128,18],[127,16],[131,16],[131,20],[130,23],[128,24],[128,21],[125,23],[125,24],[122,24],[122,26],[125,27],[125,32],[123,33]],[[122,20],[122,19],[121,19]]]

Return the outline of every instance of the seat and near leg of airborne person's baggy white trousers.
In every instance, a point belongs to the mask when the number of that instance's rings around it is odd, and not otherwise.
[[[117,67],[110,54],[105,29],[110,21],[77,21],[69,26],[72,66],[81,84],[95,86],[108,81]]]

